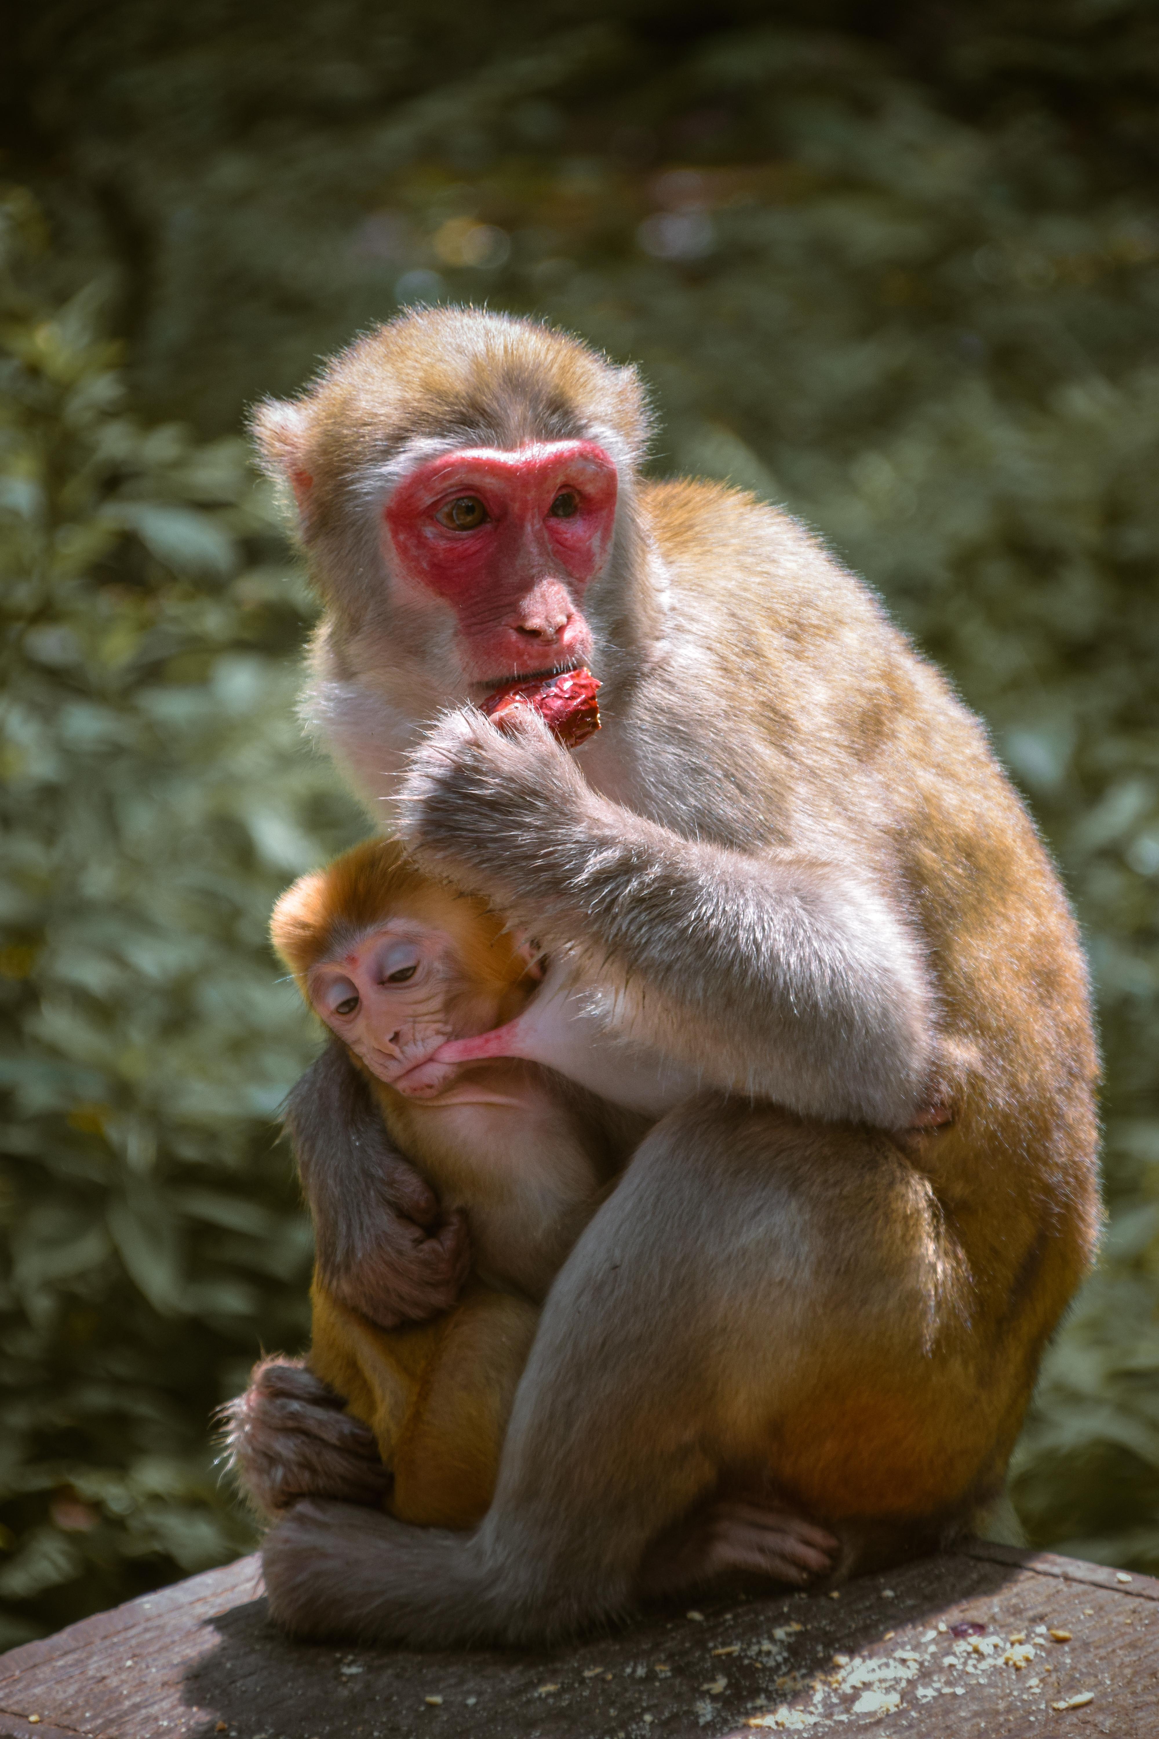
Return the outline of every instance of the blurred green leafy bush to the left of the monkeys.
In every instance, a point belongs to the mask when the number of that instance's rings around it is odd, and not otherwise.
[[[10,256],[19,249],[9,202]],[[28,231],[28,223],[23,226]],[[356,830],[294,723],[299,584],[236,438],[125,409],[101,297],[0,285],[0,1640],[248,1539],[212,1407],[306,1323],[264,944]],[[26,275],[26,273],[24,273]]]

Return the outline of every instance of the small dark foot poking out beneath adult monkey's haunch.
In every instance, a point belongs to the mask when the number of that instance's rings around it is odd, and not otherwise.
[[[636,1588],[641,1598],[676,1595],[737,1572],[801,1586],[827,1576],[839,1548],[827,1529],[792,1509],[719,1499],[648,1548]]]

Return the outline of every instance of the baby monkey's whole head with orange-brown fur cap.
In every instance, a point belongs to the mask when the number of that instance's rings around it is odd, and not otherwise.
[[[315,1014],[414,1097],[459,1073],[429,1061],[441,1043],[514,1019],[540,977],[480,901],[431,882],[394,840],[365,840],[301,876],[269,934]]]

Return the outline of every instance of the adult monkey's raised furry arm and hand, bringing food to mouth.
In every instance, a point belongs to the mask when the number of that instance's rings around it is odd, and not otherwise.
[[[521,711],[500,736],[454,713],[412,758],[401,833],[622,989],[629,1031],[808,1116],[905,1127],[923,1099],[931,995],[900,913],[853,861],[747,857],[594,793]]]

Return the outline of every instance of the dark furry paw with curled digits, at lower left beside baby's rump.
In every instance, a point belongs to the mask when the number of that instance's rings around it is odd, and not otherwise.
[[[221,1409],[226,1461],[254,1509],[276,1516],[299,1497],[382,1506],[391,1476],[374,1431],[302,1358],[262,1358],[245,1395]]]

